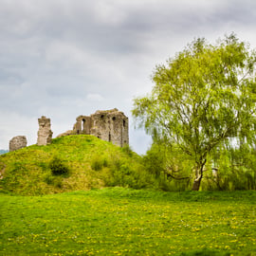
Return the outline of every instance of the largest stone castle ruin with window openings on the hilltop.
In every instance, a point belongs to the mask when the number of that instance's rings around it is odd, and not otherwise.
[[[128,118],[117,108],[97,111],[90,116],[79,116],[73,134],[92,135],[123,147],[129,144]]]

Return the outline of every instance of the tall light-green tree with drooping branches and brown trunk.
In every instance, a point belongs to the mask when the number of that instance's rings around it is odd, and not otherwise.
[[[254,144],[255,64],[255,52],[233,33],[214,46],[197,39],[167,64],[156,65],[151,94],[134,100],[137,123],[194,163],[194,191],[220,143]]]

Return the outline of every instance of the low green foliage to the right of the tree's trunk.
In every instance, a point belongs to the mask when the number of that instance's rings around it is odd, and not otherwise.
[[[203,190],[255,190],[256,150],[247,143],[230,146],[223,143],[209,157]]]

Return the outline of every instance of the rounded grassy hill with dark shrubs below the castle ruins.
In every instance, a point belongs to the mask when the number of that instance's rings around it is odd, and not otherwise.
[[[24,195],[98,189],[145,188],[151,177],[129,147],[92,136],[68,136],[0,155],[0,191]]]

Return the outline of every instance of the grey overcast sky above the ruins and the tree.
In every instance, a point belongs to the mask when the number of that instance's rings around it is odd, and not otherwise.
[[[0,149],[18,135],[35,144],[43,115],[56,137],[80,115],[117,107],[144,154],[150,137],[131,109],[151,91],[155,64],[232,31],[256,48],[255,0],[0,0]]]

